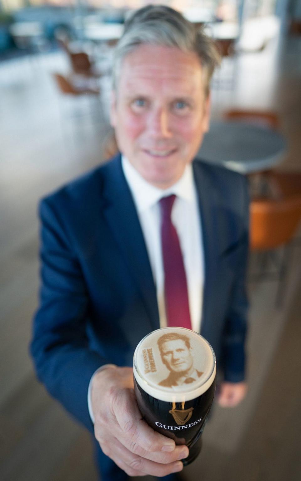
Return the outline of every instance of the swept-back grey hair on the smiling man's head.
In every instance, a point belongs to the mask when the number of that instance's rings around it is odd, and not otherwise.
[[[147,5],[136,10],[124,25],[124,32],[114,52],[113,89],[117,89],[123,59],[140,45],[176,47],[184,52],[194,52],[205,74],[205,93],[213,71],[220,64],[220,54],[214,42],[176,10],[165,5]]]

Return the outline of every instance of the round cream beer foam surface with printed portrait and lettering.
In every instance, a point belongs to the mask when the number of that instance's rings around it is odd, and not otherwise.
[[[208,374],[207,346],[193,331],[159,329],[140,346],[139,370],[147,382],[172,391],[190,391]],[[209,357],[210,359],[210,357]],[[203,379],[202,379],[203,378]]]

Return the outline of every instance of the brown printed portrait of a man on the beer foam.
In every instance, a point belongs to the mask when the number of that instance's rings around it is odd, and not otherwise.
[[[172,332],[159,337],[157,343],[162,362],[170,370],[168,378],[160,381],[159,386],[182,386],[201,377],[203,373],[194,367],[192,347],[187,336]]]

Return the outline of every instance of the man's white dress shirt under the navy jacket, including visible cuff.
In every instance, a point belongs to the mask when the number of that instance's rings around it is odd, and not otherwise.
[[[160,328],[167,326],[167,319],[164,302],[164,268],[161,250],[160,206],[158,202],[162,197],[167,197],[171,194],[176,195],[171,212],[171,221],[177,230],[183,255],[191,326],[193,330],[200,332],[205,277],[204,249],[192,165],[186,165],[183,176],[178,182],[168,189],[162,190],[149,184],[141,177],[127,158],[122,156],[121,162],[123,173],[138,213],[153,273],[157,292]],[[109,365],[105,365],[100,369],[107,366]],[[91,385],[92,379],[88,390],[88,406],[91,419],[94,422]]]

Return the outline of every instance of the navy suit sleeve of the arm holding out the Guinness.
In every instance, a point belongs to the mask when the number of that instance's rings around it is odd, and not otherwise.
[[[88,387],[92,374],[107,360],[88,346],[89,295],[58,212],[55,203],[41,202],[40,303],[30,350],[38,378],[48,392],[93,431]]]

